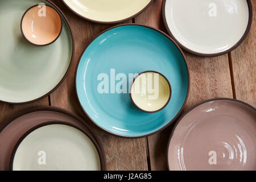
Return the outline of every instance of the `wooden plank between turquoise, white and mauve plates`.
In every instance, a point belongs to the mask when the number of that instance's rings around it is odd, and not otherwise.
[[[144,13],[137,16],[135,23],[146,24],[166,32],[162,21],[162,0],[155,1]],[[233,98],[228,55],[208,58],[185,51],[184,53],[191,76],[191,90],[184,111],[210,98]],[[167,141],[172,126],[147,138],[152,170],[167,170]]]

